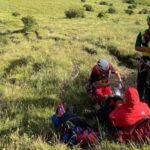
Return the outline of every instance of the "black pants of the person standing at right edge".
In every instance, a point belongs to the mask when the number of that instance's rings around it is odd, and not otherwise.
[[[150,57],[143,57],[144,62],[150,61]],[[147,85],[148,79],[148,70],[145,69],[145,64],[142,64],[141,68],[138,71],[138,77],[137,77],[137,90],[140,96],[140,99],[145,101],[148,100],[150,105],[150,91],[149,91],[149,85]]]

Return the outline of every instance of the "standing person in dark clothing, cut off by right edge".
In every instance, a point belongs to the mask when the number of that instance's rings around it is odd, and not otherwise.
[[[148,75],[148,70],[145,64],[150,61],[150,15],[147,16],[147,25],[148,29],[138,34],[135,44],[135,50],[142,54],[142,61],[140,61],[139,64],[137,77],[137,90],[140,95],[140,99],[142,100],[145,100],[144,89],[146,87]],[[150,99],[150,93],[148,97],[148,99]]]

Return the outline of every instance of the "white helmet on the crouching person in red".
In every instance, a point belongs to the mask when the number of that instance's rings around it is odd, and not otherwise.
[[[100,70],[107,71],[109,69],[109,62],[106,59],[100,59],[97,62],[98,67]]]

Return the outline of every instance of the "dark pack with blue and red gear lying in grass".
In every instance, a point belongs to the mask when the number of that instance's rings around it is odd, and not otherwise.
[[[83,117],[74,112],[66,111],[60,104],[56,114],[52,116],[52,123],[61,128],[60,140],[67,144],[94,144],[98,142],[100,134],[86,122]]]

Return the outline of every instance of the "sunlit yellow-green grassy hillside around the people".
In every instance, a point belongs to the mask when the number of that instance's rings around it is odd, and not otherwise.
[[[133,80],[126,88],[135,86],[136,70],[127,58],[135,54],[137,33],[147,27],[147,14],[139,11],[149,10],[150,2],[137,0],[129,15],[124,10],[130,4],[105,1],[108,5],[99,5],[100,0],[0,0],[0,149],[67,149],[57,140],[50,116],[61,100],[78,107],[79,113],[91,109],[84,85],[100,58]],[[85,11],[85,18],[65,17],[66,10],[84,9],[84,4],[94,11]],[[110,5],[116,13],[98,18]],[[23,33],[21,18],[26,16],[37,20],[38,36]],[[141,145],[104,139],[96,147],[108,148],[141,149]]]

